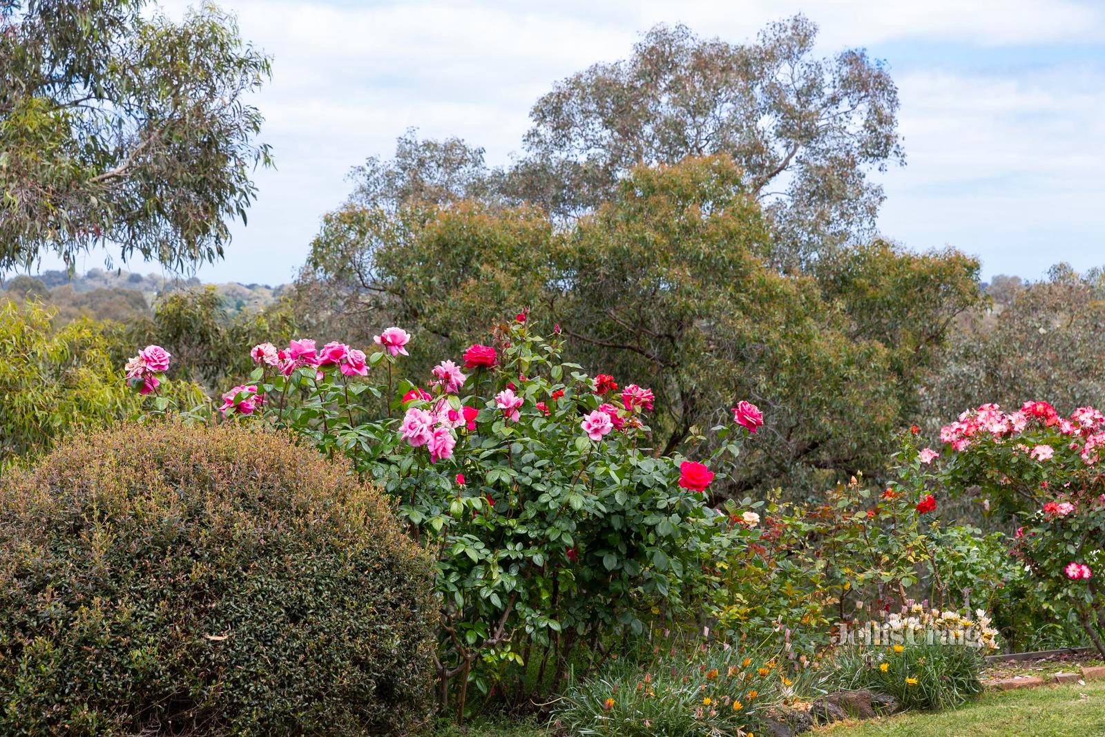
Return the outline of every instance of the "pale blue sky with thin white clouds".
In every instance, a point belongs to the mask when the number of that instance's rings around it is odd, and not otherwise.
[[[170,17],[188,6],[166,0]],[[273,57],[253,97],[276,168],[256,173],[209,282],[278,284],[306,257],[347,175],[407,128],[509,161],[533,103],[588,65],[624,59],[652,25],[753,39],[802,12],[819,54],[864,48],[898,85],[906,165],[874,173],[882,234],[976,255],[982,277],[1105,265],[1105,0],[220,0]],[[78,270],[103,266],[93,252]],[[42,269],[56,262],[43,260]],[[131,271],[160,272],[131,263]]]

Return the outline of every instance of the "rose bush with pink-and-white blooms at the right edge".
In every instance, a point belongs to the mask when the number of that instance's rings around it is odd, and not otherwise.
[[[1070,607],[1105,657],[1105,415],[1069,417],[1045,401],[968,410],[940,431],[947,488],[970,488],[1018,523],[1012,552],[1042,598]]]

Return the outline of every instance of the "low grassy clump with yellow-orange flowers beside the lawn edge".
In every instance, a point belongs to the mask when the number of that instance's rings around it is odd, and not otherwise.
[[[901,647],[843,649],[828,665],[842,687],[888,694],[907,709],[955,708],[982,692],[986,660],[978,649],[925,642]]]

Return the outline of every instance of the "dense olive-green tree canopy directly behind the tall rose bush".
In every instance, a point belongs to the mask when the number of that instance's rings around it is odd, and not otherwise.
[[[324,325],[344,319],[350,340],[369,334],[343,316],[369,315],[454,355],[504,305],[547,305],[571,338],[569,360],[648,378],[667,452],[738,398],[768,412],[727,491],[875,475],[948,322],[978,298],[977,263],[877,243],[813,277],[771,269],[770,250],[739,167],[707,157],[633,170],[569,229],[529,208],[349,206],[312,246],[301,304],[328,312]]]

